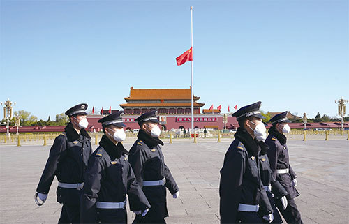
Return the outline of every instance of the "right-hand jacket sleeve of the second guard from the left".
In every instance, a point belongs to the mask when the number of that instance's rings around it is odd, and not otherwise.
[[[142,188],[138,185],[130,164],[128,164],[127,169],[127,194],[130,201],[130,210],[144,211],[145,209],[150,208],[150,204],[147,197],[145,197]]]

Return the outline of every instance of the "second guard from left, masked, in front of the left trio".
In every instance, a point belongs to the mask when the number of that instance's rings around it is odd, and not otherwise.
[[[128,163],[128,151],[121,143],[126,138],[123,114],[119,111],[98,120],[104,135],[85,174],[82,223],[127,223],[126,194],[133,200],[131,211],[140,211],[145,216],[150,207]]]

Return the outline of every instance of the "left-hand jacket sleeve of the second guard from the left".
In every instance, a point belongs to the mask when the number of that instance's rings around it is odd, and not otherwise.
[[[96,201],[104,176],[103,158],[92,155],[85,172],[84,188],[80,203],[80,222],[96,223]]]

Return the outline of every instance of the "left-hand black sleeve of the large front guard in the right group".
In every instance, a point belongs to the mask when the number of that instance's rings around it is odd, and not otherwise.
[[[221,223],[235,223],[242,195],[242,179],[245,172],[244,151],[228,150],[221,169],[219,185]]]

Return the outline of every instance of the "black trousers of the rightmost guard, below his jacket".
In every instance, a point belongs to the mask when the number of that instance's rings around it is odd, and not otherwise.
[[[285,210],[283,210],[281,200],[275,200],[275,204],[283,218],[285,218],[286,223],[303,223],[294,199],[288,199],[288,205]]]

